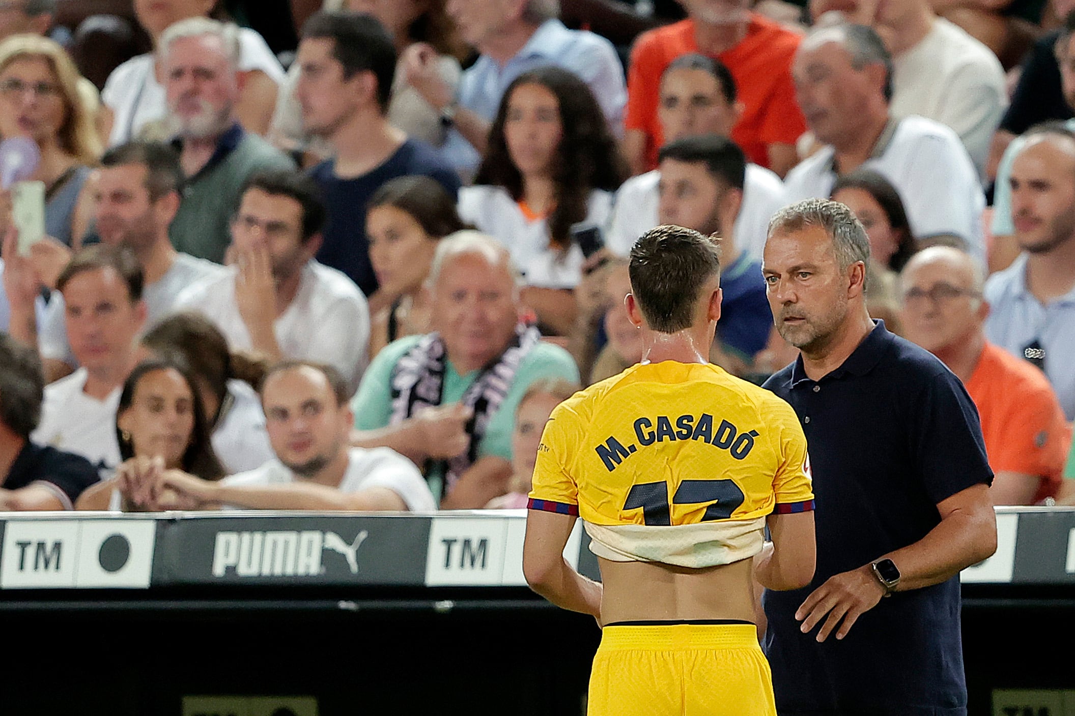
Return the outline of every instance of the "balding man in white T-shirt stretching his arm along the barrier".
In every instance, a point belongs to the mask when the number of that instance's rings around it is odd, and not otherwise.
[[[285,362],[266,376],[263,404],[276,458],[210,482],[163,472],[161,507],[225,506],[254,510],[393,510],[430,512],[433,496],[417,468],[387,448],[348,447],[354,414],[347,385],[327,365]]]

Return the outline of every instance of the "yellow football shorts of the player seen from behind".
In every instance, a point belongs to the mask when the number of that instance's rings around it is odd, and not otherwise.
[[[606,626],[588,716],[776,716],[752,624]]]

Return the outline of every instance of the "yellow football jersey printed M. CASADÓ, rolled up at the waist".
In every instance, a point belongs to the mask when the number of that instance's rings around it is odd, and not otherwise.
[[[761,549],[765,515],[814,508],[806,437],[773,393],[714,365],[636,365],[553,411],[530,509],[577,514],[619,561],[708,567]]]

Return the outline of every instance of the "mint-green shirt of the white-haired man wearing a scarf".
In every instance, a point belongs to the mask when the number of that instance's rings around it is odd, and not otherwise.
[[[358,386],[358,393],[352,400],[350,406],[355,411],[355,427],[360,430],[373,430],[386,427],[392,414],[391,375],[396,363],[422,338],[422,336],[406,336],[386,346],[377,356],[373,359],[370,367],[362,376],[362,382]],[[463,393],[471,386],[471,383],[478,377],[481,371],[472,370],[465,376],[460,376],[452,361],[447,361],[444,370],[444,386],[441,391],[441,405],[458,403],[462,399]],[[512,459],[512,430],[515,427],[515,411],[519,407],[519,400],[524,393],[538,380],[545,378],[562,378],[573,382],[578,382],[578,367],[568,351],[558,346],[539,341],[522,362],[518,370],[515,371],[515,380],[512,382],[507,395],[500,404],[500,408],[489,419],[489,424],[485,429],[477,445],[478,457],[496,455],[504,459]],[[443,470],[427,473],[433,494],[440,494]]]

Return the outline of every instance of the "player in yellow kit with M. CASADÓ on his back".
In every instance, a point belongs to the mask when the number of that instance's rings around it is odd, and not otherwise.
[[[658,227],[629,271],[643,361],[553,411],[524,572],[603,626],[591,716],[775,716],[754,579],[794,589],[814,574],[806,439],[787,403],[706,360],[721,298],[712,239]],[[563,559],[578,516],[603,588]]]

